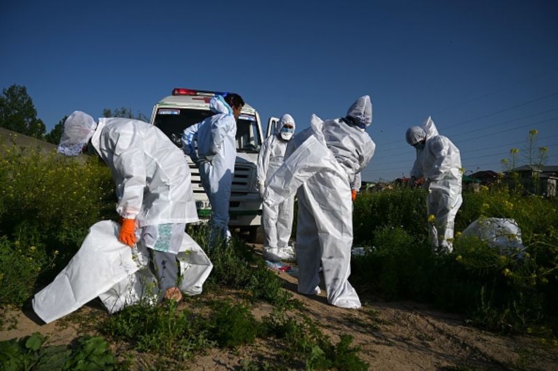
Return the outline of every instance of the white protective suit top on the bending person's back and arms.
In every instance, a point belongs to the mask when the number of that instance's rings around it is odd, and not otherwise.
[[[99,119],[91,144],[112,171],[121,216],[134,217],[138,227],[197,222],[190,169],[156,126]]]

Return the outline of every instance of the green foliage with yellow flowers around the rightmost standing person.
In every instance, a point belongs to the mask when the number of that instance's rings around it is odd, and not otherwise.
[[[353,259],[352,281],[390,300],[410,298],[465,312],[472,324],[492,330],[548,331],[558,305],[557,199],[497,187],[464,192],[463,199],[454,251],[437,256],[428,239],[423,190],[360,195],[354,245],[365,245],[366,253]],[[486,217],[518,222],[525,254],[504,254],[485,241],[460,236],[471,222]]]

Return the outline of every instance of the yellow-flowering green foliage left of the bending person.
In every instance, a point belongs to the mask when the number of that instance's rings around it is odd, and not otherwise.
[[[0,302],[21,305],[54,278],[98,220],[114,215],[109,169],[0,146]]]

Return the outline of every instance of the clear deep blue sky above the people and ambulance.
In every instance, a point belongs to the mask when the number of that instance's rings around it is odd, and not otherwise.
[[[151,109],[174,87],[235,91],[265,123],[344,116],[363,94],[363,180],[408,175],[432,115],[467,173],[501,171],[530,129],[558,165],[557,1],[0,1],[0,88],[50,130],[81,109]]]

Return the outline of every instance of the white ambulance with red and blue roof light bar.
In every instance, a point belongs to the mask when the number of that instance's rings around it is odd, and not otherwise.
[[[209,100],[217,94],[227,95],[218,91],[176,88],[171,96],[161,99],[153,107],[151,123],[181,148],[183,130],[212,115]],[[259,114],[246,103],[236,121],[236,162],[229,204],[229,228],[249,232],[251,241],[259,239],[262,232],[262,200],[255,188],[257,155],[262,139]],[[192,174],[197,215],[207,220],[211,214],[211,205],[199,180],[199,169],[189,156],[186,159]]]

